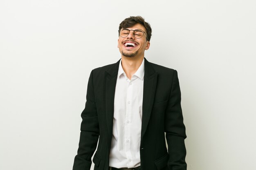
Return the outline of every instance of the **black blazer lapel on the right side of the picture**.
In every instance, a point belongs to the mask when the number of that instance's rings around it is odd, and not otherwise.
[[[141,125],[141,141],[146,132],[148,121],[150,118],[157,85],[157,72],[145,58],[144,69],[144,87],[143,87],[143,103],[142,103],[142,125]]]

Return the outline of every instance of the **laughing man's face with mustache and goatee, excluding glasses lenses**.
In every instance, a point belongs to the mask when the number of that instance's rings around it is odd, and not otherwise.
[[[146,28],[141,24],[136,24],[127,29],[141,29],[146,32]],[[133,32],[134,31],[130,31],[129,35],[125,38],[119,36],[117,47],[124,57],[144,57],[144,51],[149,49],[150,42],[146,40],[145,33],[143,37],[135,38]],[[129,45],[128,43],[132,43],[132,45]]]

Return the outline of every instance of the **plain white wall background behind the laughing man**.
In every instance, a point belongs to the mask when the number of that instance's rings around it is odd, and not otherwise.
[[[188,170],[256,169],[255,0],[1,0],[1,170],[72,169],[90,71],[131,15],[178,71]]]

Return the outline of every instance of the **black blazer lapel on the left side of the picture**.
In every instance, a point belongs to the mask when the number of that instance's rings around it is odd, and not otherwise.
[[[120,60],[115,63],[110,70],[105,71],[105,104],[106,104],[106,124],[108,128],[108,137],[111,143],[113,117],[114,117],[114,98],[117,83],[117,73]],[[104,95],[104,94],[103,94]]]

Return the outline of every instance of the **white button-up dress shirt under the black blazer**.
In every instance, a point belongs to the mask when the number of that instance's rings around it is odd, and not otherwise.
[[[113,135],[109,166],[140,166],[140,137],[144,82],[144,59],[131,79],[119,64],[114,99]]]

